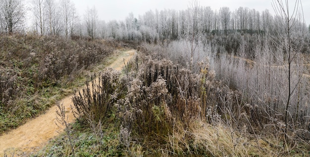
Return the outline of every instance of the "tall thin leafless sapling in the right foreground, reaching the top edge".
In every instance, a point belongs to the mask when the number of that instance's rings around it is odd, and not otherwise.
[[[296,95],[297,88],[302,79],[305,69],[298,66],[301,62],[301,52],[304,46],[304,36],[306,33],[305,28],[298,25],[303,20],[301,0],[295,0],[293,7],[288,0],[273,0],[273,9],[276,13],[277,21],[275,22],[275,29],[272,38],[278,54],[275,57],[282,63],[284,72],[286,74],[287,89],[285,93],[281,94],[281,99],[284,105],[284,118],[285,118],[285,137],[289,125],[294,125],[294,119],[290,107],[292,106],[293,96]],[[292,11],[292,12],[291,12]],[[302,20],[301,20],[302,18]],[[290,128],[294,129],[294,126]]]

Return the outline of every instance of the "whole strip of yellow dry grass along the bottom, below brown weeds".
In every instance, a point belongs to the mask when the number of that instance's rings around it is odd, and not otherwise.
[[[276,139],[254,136],[244,127],[242,132],[227,127],[221,122],[211,125],[196,120],[185,130],[181,123],[174,125],[173,134],[167,137],[167,146],[163,155],[196,154],[210,157],[272,157],[287,155]],[[268,142],[267,142],[268,141]],[[269,142],[273,141],[273,142]],[[293,149],[290,149],[293,150]]]

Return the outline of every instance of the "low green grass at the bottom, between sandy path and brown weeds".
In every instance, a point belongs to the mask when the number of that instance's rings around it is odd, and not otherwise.
[[[82,121],[75,122],[72,140],[77,157],[118,157],[125,155],[125,149],[119,140],[119,127],[115,124],[105,123],[100,143],[96,135]],[[32,157],[72,157],[70,152],[69,139],[65,133],[53,139],[37,154]]]

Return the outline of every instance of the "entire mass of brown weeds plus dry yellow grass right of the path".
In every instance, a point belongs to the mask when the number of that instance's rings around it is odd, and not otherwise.
[[[92,76],[73,98],[80,119],[87,119],[90,128],[118,128],[113,132],[119,140],[115,147],[126,155],[154,149],[161,155],[294,154],[278,141],[281,135],[275,141],[260,136],[265,130],[257,125],[263,116],[258,105],[247,103],[244,93],[231,90],[224,81],[216,81],[208,64],[200,63],[200,72],[194,73],[160,56],[156,59],[158,55],[144,47],[139,50],[141,55],[127,63],[124,75],[106,69],[99,80]],[[92,130],[96,137],[104,132]],[[101,148],[103,140],[98,139],[92,147]]]

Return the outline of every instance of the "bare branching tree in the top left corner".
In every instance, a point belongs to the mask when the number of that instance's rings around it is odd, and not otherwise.
[[[1,25],[6,33],[21,28],[25,21],[25,7],[22,0],[0,0]]]

